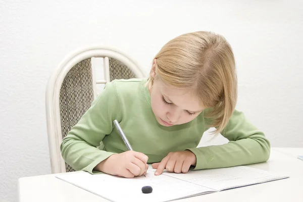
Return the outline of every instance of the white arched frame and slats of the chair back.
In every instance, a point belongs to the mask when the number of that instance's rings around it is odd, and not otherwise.
[[[92,69],[92,83],[94,98],[97,96],[96,84],[110,82],[109,58],[114,58],[126,65],[138,78],[142,78],[145,73],[126,54],[112,47],[94,46],[79,49],[67,56],[53,72],[49,78],[45,93],[46,124],[49,146],[49,156],[51,158],[52,173],[66,172],[65,161],[61,156],[60,144],[62,143],[61,116],[60,116],[60,89],[67,73],[79,62],[93,57],[104,58],[105,80],[96,80],[94,68]]]

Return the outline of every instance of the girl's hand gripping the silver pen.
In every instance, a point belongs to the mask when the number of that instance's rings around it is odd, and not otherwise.
[[[110,156],[100,162],[95,169],[111,175],[133,178],[146,173],[147,160],[148,157],[143,153],[130,150]]]

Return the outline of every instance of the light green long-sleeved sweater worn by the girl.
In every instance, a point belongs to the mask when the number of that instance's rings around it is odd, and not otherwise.
[[[113,121],[117,119],[135,151],[160,162],[171,151],[189,149],[196,156],[192,169],[210,169],[267,161],[270,143],[264,133],[235,110],[221,134],[229,142],[198,147],[209,128],[202,112],[194,120],[170,127],[160,125],[150,107],[146,79],[107,83],[88,111],[61,144],[62,157],[75,170],[95,173],[93,168],[113,154],[127,151]]]

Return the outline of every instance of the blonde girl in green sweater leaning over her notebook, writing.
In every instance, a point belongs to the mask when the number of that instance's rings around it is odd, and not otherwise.
[[[145,174],[147,163],[159,175],[267,161],[269,141],[235,110],[236,100],[235,61],[225,38],[183,34],[162,47],[148,79],[106,84],[63,139],[62,156],[75,170],[127,178]],[[197,148],[210,127],[229,142]]]

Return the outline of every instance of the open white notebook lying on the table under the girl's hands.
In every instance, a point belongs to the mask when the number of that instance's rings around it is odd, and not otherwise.
[[[287,178],[246,166],[169,173],[155,176],[148,169],[146,177],[122,178],[108,174],[92,175],[88,172],[71,172],[56,177],[111,201],[169,201],[229,188],[264,183]],[[144,194],[143,186],[153,187]]]

